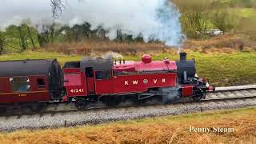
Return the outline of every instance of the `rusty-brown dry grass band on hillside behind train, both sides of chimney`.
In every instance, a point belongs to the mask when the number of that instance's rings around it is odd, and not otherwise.
[[[193,50],[202,53],[233,53],[238,51],[255,51],[256,42],[251,42],[242,35],[226,34],[206,40],[188,39],[183,46],[185,50]],[[84,41],[84,42],[63,42],[52,43],[45,47],[51,52],[61,52],[64,54],[94,54],[114,51],[125,55],[135,55],[140,53],[177,53],[178,48],[171,49],[162,43],[140,43],[140,42],[110,42],[110,41]]]

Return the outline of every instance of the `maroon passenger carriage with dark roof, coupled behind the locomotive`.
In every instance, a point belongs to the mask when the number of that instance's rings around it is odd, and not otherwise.
[[[0,103],[59,100],[62,78],[56,59],[0,62]]]

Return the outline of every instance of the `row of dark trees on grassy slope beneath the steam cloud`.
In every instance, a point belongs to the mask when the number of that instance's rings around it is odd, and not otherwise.
[[[95,30],[90,27],[88,22],[72,27],[58,23],[40,28],[26,23],[21,26],[8,26],[5,31],[0,31],[0,55],[4,50],[36,50],[55,42],[110,41],[106,37],[108,30],[104,30],[102,26]],[[133,38],[132,35],[122,34],[122,30],[117,30],[116,34],[115,42],[144,42],[142,35]]]

